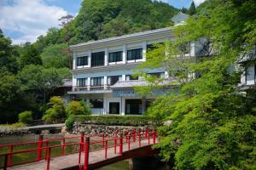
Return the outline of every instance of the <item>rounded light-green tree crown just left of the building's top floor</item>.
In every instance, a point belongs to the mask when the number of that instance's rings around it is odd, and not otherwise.
[[[68,68],[68,56],[64,50],[67,49],[67,44],[54,44],[44,48],[40,55],[45,68]]]

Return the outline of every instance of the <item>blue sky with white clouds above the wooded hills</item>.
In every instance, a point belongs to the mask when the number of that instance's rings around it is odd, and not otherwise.
[[[176,8],[189,8],[192,0],[156,0]],[[205,0],[194,0],[198,6]],[[35,42],[50,27],[59,27],[61,16],[76,15],[82,0],[0,0],[0,28],[13,44]]]

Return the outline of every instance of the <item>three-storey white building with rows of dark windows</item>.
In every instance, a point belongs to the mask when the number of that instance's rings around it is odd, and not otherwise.
[[[96,115],[143,115],[154,96],[139,96],[133,89],[146,85],[134,70],[146,59],[147,48],[153,43],[173,40],[173,27],[143,31],[121,37],[111,37],[73,45],[73,97],[93,105]],[[191,43],[189,55],[200,49]],[[168,78],[162,69],[148,72]]]

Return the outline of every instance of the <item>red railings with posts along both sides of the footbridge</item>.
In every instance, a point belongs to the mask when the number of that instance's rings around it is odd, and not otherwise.
[[[113,148],[114,154],[117,153],[117,149],[119,148],[119,155],[122,155],[123,153],[123,144],[127,144],[127,150],[131,150],[131,139],[132,143],[135,143],[138,141],[138,146],[142,146],[142,140],[147,139],[148,144],[150,144],[150,141],[152,140],[152,144],[156,143],[157,133],[156,130],[149,130],[146,129],[145,131],[141,132],[138,130],[137,132],[133,130],[132,132],[125,133],[123,136],[117,137],[115,135],[114,138],[105,138],[105,135],[101,135],[101,140],[92,140],[90,142],[91,137],[100,137],[100,135],[93,135],[93,136],[84,136],[84,133],[82,133],[80,136],[72,136],[72,137],[66,137],[66,138],[55,138],[55,139],[43,139],[43,135],[40,135],[37,142],[27,142],[27,143],[17,143],[17,144],[2,144],[0,145],[0,148],[2,147],[9,147],[9,153],[0,154],[0,158],[4,156],[4,162],[3,166],[0,168],[7,169],[7,167],[12,167],[19,164],[24,164],[27,162],[32,161],[41,161],[45,160],[47,162],[46,169],[49,170],[49,161],[51,156],[51,150],[60,148],[60,155],[55,156],[65,156],[67,154],[72,153],[79,153],[79,167],[81,169],[87,170],[88,169],[88,160],[89,160],[89,152],[94,152],[97,150],[105,150],[104,151],[104,158],[108,159],[108,149]],[[123,142],[123,137],[125,137],[125,141]],[[85,138],[85,140],[84,140]],[[71,142],[67,144],[68,139],[75,139],[76,142]],[[160,141],[160,138],[158,139]],[[50,143],[53,143],[54,145],[51,145]],[[55,144],[55,142],[61,142],[61,144]],[[29,150],[19,150],[14,151],[15,146],[19,145],[27,145],[27,144],[33,144],[36,146],[34,149]],[[67,152],[68,146],[77,146],[79,150],[73,150],[72,152]],[[13,163],[13,157],[18,154],[30,154],[32,152],[37,153],[37,157],[33,157],[32,160],[26,160],[26,161],[20,161],[18,163]],[[84,152],[84,165],[81,164],[81,155]],[[44,154],[44,156],[43,156]]]

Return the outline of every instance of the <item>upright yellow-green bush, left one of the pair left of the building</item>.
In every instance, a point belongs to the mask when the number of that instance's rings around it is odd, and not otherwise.
[[[64,101],[60,96],[54,96],[49,99],[50,108],[45,112],[43,120],[50,123],[64,122],[67,118]]]

